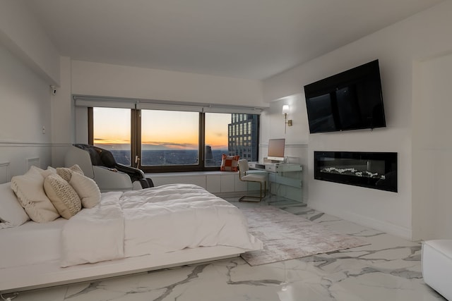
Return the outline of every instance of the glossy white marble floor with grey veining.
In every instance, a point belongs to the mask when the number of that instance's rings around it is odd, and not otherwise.
[[[369,245],[262,266],[240,257],[162,271],[19,293],[15,301],[100,300],[446,300],[422,280],[421,245],[293,202],[239,203],[280,207]],[[2,296],[13,297],[11,294]]]

